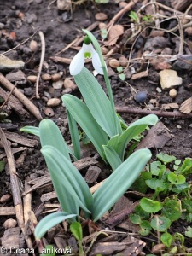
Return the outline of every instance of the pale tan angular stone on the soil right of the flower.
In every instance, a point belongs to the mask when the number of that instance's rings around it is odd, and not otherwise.
[[[172,89],[174,86],[181,85],[183,80],[177,76],[177,72],[172,69],[160,71],[160,86],[163,90]]]

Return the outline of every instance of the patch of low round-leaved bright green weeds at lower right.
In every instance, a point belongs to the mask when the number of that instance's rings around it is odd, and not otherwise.
[[[172,223],[181,219],[192,221],[191,185],[186,177],[192,173],[192,159],[181,160],[175,156],[160,153],[157,160],[148,164],[146,172],[142,172],[132,185],[139,186],[139,192],[154,191],[151,198],[143,197],[135,207],[135,213],[130,215],[133,224],[139,224],[140,234],[148,236],[152,232],[160,234],[160,241],[167,247],[167,251],[176,253],[186,252],[184,236],[180,233],[170,234]],[[142,183],[142,186],[140,185]],[[186,237],[192,237],[189,226],[184,232]],[[174,246],[175,244],[179,246]],[[172,255],[172,254],[162,254]]]

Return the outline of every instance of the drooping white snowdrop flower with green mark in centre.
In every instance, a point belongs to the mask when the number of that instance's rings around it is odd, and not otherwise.
[[[84,60],[92,59],[93,67],[95,68],[97,73],[103,74],[102,71],[102,63],[100,61],[99,55],[96,52],[96,49],[93,48],[93,45],[83,44],[82,48],[79,50],[79,53],[74,56],[71,64],[69,66],[69,71],[71,75],[77,75],[81,72],[84,67]]]

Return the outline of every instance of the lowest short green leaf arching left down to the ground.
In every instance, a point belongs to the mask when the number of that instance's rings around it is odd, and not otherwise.
[[[61,223],[65,219],[73,219],[74,217],[76,217],[76,214],[70,214],[68,212],[54,212],[42,218],[35,228],[34,235],[36,240],[41,239],[44,234],[56,224]]]

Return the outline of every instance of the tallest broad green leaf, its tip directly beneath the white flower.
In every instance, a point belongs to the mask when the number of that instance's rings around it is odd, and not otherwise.
[[[76,84],[84,97],[84,102],[96,122],[102,127],[109,137],[118,133],[113,119],[113,108],[101,85],[85,67],[74,76]],[[116,113],[115,113],[116,114]],[[116,116],[119,123],[119,119]]]

